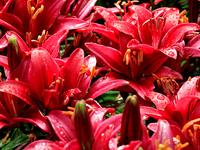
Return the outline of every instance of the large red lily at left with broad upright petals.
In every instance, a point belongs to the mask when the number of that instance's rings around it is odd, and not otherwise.
[[[1,89],[36,106],[43,112],[63,109],[67,104],[71,105],[73,100],[80,100],[85,96],[94,75],[95,65],[94,57],[89,56],[84,59],[83,50],[77,49],[66,62],[61,64],[60,68],[45,49],[36,48],[8,77],[8,80],[17,78],[25,83],[5,81],[2,82]],[[127,84],[127,81],[108,77],[103,81],[100,78],[96,83],[91,88],[91,92],[95,89],[96,93],[88,92],[87,95],[91,96],[88,98],[95,98],[112,88]],[[3,89],[7,88],[5,84],[12,86],[12,89],[13,87],[20,88],[25,94],[19,95],[13,90],[4,91]]]

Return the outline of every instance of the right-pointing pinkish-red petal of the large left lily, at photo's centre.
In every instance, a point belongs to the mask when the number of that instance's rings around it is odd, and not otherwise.
[[[127,85],[129,82],[123,80],[123,77],[116,73],[108,73],[105,78],[98,79],[90,88],[90,91],[85,95],[84,99],[95,99],[99,95],[112,90],[114,88]]]

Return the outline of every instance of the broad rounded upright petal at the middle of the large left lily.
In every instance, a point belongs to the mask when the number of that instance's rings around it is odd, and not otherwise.
[[[45,49],[40,47],[32,51],[29,84],[38,96],[49,88],[54,76],[57,79],[59,71],[59,66]]]

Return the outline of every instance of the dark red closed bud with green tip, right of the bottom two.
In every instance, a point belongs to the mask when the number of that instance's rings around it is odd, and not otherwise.
[[[140,119],[137,96],[129,96],[126,99],[121,126],[120,145],[129,144],[131,141],[142,139],[142,126]]]

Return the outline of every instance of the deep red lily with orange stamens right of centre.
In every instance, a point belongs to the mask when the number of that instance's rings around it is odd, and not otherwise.
[[[123,43],[120,44],[120,46]],[[142,98],[150,91],[153,91],[155,81],[154,78],[148,77],[154,73],[166,60],[166,56],[156,51],[154,48],[145,46],[135,46],[135,49],[128,49],[123,55],[123,49],[120,51],[98,45],[94,43],[86,43],[86,47],[108,65],[115,73],[116,78],[127,80],[132,90],[124,88],[122,91],[137,92]],[[134,53],[134,55],[133,55]],[[160,55],[161,54],[161,55]],[[169,68],[163,68],[169,74]],[[171,72],[172,73],[172,72]],[[167,74],[167,75],[168,75]],[[123,76],[122,76],[123,75]],[[143,77],[142,77],[143,75]],[[146,75],[146,76],[144,76]]]

